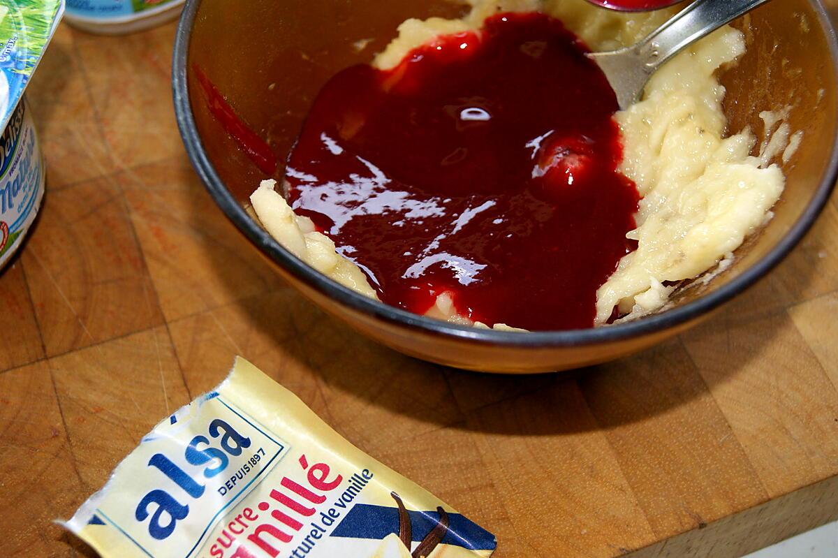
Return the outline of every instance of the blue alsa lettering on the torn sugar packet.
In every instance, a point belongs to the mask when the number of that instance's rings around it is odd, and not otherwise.
[[[172,480],[183,489],[185,496],[192,500],[204,495],[206,485],[202,482],[203,479],[213,478],[224,472],[230,464],[230,457],[239,457],[244,449],[251,447],[249,437],[242,436],[221,419],[210,422],[207,433],[213,438],[213,442],[210,442],[208,437],[196,436],[184,452],[184,459],[190,465],[207,465],[203,472],[196,474],[197,478],[190,476],[184,468],[178,467],[162,453],[155,453],[148,460],[149,468],[156,469]],[[217,447],[213,443],[217,443]],[[148,521],[148,534],[154,539],[164,540],[172,535],[178,521],[186,519],[189,515],[189,499],[184,498],[184,494],[178,494],[178,499],[168,491],[156,488],[140,500],[134,515],[141,523],[151,517]]]

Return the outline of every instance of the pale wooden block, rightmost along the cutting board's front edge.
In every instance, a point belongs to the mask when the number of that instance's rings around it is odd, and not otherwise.
[[[787,313],[740,322],[733,312],[685,334],[685,344],[768,494],[829,476],[838,467],[835,386]]]

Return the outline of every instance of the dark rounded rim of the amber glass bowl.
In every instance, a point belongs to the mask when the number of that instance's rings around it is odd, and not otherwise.
[[[830,50],[830,60],[838,75],[838,38],[836,38],[835,26],[825,9],[821,0],[807,0],[818,18],[820,29],[825,34],[825,39]],[[561,348],[596,346],[602,344],[624,341],[639,338],[648,334],[661,333],[665,330],[690,323],[701,316],[710,313],[717,307],[722,306],[733,297],[736,297],[748,287],[753,286],[760,278],[768,274],[795,245],[808,232],[815,220],[824,209],[830,199],[832,190],[835,188],[835,180],[838,178],[838,127],[835,129],[832,152],[829,165],[824,176],[821,178],[815,195],[804,209],[803,214],[794,222],[794,225],[783,236],[783,238],[768,252],[762,259],[757,261],[750,269],[735,277],[731,282],[695,301],[688,302],[683,306],[675,307],[665,312],[654,314],[646,318],[640,318],[629,323],[620,323],[603,328],[572,329],[564,331],[535,331],[535,332],[508,332],[494,329],[473,328],[470,326],[456,325],[443,322],[433,318],[425,318],[418,314],[410,313],[400,308],[392,307],[365,297],[358,292],[340,285],[338,282],[324,276],[313,267],[293,256],[274,240],[271,235],[256,224],[251,216],[246,213],[225,187],[212,163],[209,162],[204,151],[203,142],[198,134],[189,102],[189,83],[186,70],[189,54],[189,42],[191,32],[198,12],[201,0],[187,0],[184,11],[178,22],[175,35],[172,82],[173,101],[175,116],[178,121],[180,135],[184,141],[186,152],[189,155],[196,173],[198,173],[209,194],[215,199],[215,203],[226,214],[227,218],[243,233],[256,247],[282,269],[297,277],[308,287],[331,298],[334,302],[349,307],[355,312],[363,313],[371,318],[384,320],[398,326],[418,330],[418,332],[430,335],[456,338],[475,344],[503,345],[515,348]]]

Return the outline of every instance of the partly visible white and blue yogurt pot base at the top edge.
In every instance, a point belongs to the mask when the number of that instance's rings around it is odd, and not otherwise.
[[[67,0],[65,19],[88,33],[142,31],[177,18],[186,0]]]

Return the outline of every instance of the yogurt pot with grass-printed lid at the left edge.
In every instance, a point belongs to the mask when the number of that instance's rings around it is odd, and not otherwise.
[[[0,269],[44,198],[44,158],[23,90],[63,11],[63,0],[0,0]]]

